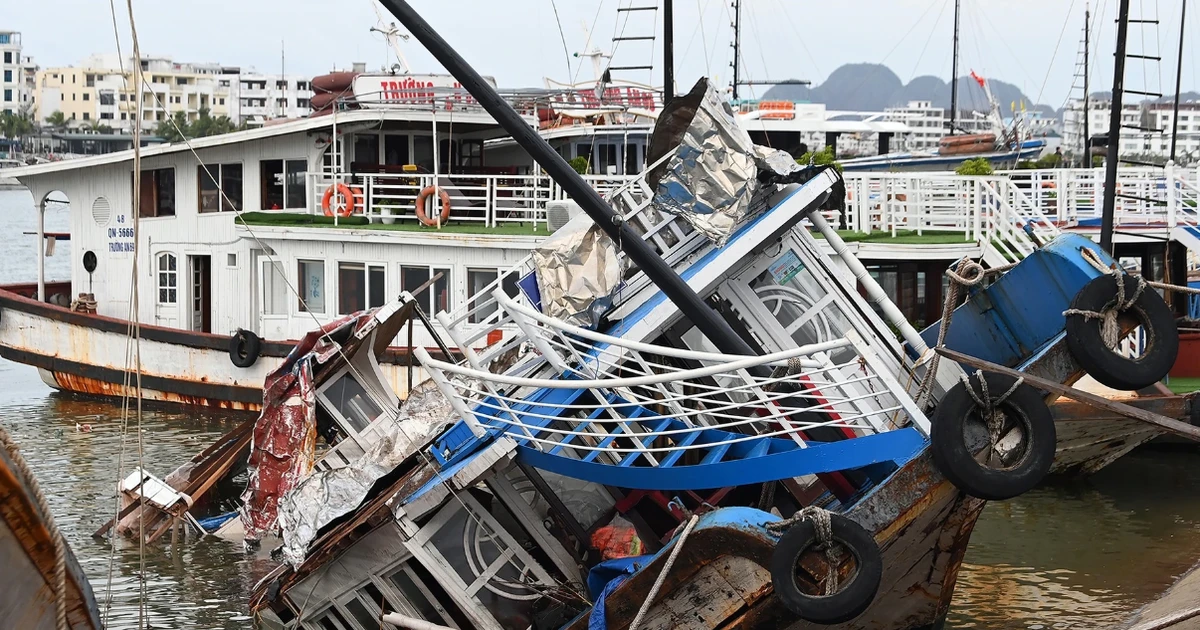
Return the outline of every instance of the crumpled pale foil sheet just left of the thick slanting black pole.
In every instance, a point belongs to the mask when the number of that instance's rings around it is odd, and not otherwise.
[[[594,329],[620,284],[617,246],[590,221],[572,221],[533,251],[541,311]]]

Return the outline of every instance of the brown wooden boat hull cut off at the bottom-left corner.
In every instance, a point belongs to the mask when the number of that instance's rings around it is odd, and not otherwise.
[[[0,428],[5,446],[16,445]],[[6,628],[54,630],[59,596],[65,598],[66,628],[101,630],[91,584],[71,548],[62,542],[66,590],[60,593],[53,517],[37,499],[38,488],[7,448],[0,449],[0,619]]]

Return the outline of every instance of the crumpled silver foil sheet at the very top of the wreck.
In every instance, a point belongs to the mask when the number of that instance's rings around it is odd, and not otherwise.
[[[703,94],[697,85],[683,97],[698,98],[696,114],[661,170],[654,205],[724,245],[758,190],[758,168],[750,134],[713,84],[704,83]]]

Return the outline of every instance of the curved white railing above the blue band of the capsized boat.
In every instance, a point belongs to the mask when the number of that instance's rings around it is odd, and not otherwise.
[[[487,356],[467,352],[454,365],[416,350],[476,434],[499,430],[544,451],[566,449],[568,456],[611,463],[632,455],[660,466],[680,451],[763,437],[793,439],[803,448],[800,432],[820,427],[866,436],[911,421],[928,431],[907,392],[877,371],[871,350],[854,335],[732,356],[611,337],[548,318],[503,292],[494,298],[503,319],[520,331],[499,352],[526,348],[511,362],[497,368]],[[751,373],[760,367],[772,370]],[[530,404],[538,390],[556,389],[589,390],[590,396],[539,397]],[[714,428],[730,436],[697,439]]]

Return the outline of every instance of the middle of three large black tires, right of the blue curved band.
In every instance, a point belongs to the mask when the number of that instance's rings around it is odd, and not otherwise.
[[[1004,395],[1015,378],[985,373],[988,395],[995,400]],[[979,391],[978,377],[971,377],[971,386]],[[958,383],[946,392],[934,410],[930,431],[930,450],[934,463],[959,490],[988,500],[1006,500],[1024,494],[1037,486],[1054,464],[1057,432],[1054,416],[1042,392],[1021,384],[1001,403],[1001,410],[1024,425],[1025,449],[1020,458],[1006,468],[991,468],[974,457],[967,428],[978,428],[986,438],[986,425],[979,406],[967,392],[966,385]],[[967,421],[972,424],[968,426]]]

